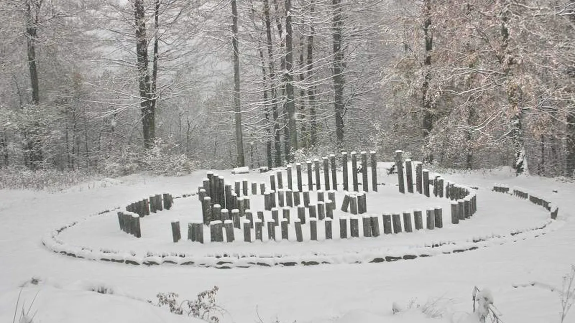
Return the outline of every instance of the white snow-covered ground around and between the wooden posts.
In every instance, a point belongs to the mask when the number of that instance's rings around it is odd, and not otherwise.
[[[218,173],[226,180],[269,181],[269,173],[232,175],[229,170]],[[154,216],[144,218],[143,221],[150,221],[143,225],[142,239],[121,232],[113,213],[89,217],[106,209],[125,207],[152,194],[196,192],[204,177],[205,170],[202,170],[184,177],[133,175],[86,182],[59,193],[1,190],[0,321],[12,320],[20,292],[20,305],[25,301],[26,309],[37,294],[31,309],[36,313],[34,322],[190,321],[145,300],[156,302],[157,293],[168,291],[178,293],[181,299],[194,299],[198,293],[215,285],[219,287],[217,303],[226,310],[223,322],[460,322],[472,310],[474,286],[491,290],[504,322],[559,322],[559,294],[541,286],[560,287],[562,276],[569,272],[571,264],[575,264],[575,185],[572,183],[515,177],[505,169],[445,174],[447,180],[478,187],[476,215],[461,224],[451,225],[446,199],[421,196],[405,199],[393,189],[396,188],[396,176],[381,175],[379,181],[386,182],[386,186],[379,192],[381,199],[374,196],[375,193],[368,196],[370,213],[380,213],[379,209],[381,212],[401,212],[413,207],[425,209],[441,205],[444,228],[350,241],[206,243],[200,246],[184,240],[173,244],[169,222],[199,219],[199,212],[192,211],[198,206],[191,202],[195,197],[189,198],[189,202],[178,199],[173,210],[154,215],[156,219],[165,217],[162,221],[154,220]],[[549,212],[527,200],[490,192],[494,183],[520,186],[547,198],[558,205],[558,219],[537,234],[511,238],[511,232],[546,224]],[[483,243],[482,248],[473,251],[438,252],[409,261],[221,270],[176,265],[130,266],[76,259],[55,254],[43,246],[42,239],[53,229],[74,221],[80,222],[64,231],[59,239],[79,246],[136,252],[213,254],[232,248],[236,252],[269,253],[272,250],[292,256],[306,253],[336,255],[391,252],[442,241],[469,242],[489,235],[505,238]],[[165,234],[146,238],[146,229],[151,232],[162,225],[167,226],[158,232]],[[334,228],[334,237],[336,232]],[[26,283],[33,277],[40,278],[38,285]],[[530,282],[539,284],[531,286]],[[21,288],[22,285],[25,286]],[[522,287],[514,287],[519,285]],[[113,290],[113,294],[91,291],[102,286]],[[443,317],[430,318],[419,310],[392,314],[394,302],[405,306],[413,299],[422,306],[432,303],[432,308],[443,313]],[[575,312],[569,314],[566,322],[575,322]]]

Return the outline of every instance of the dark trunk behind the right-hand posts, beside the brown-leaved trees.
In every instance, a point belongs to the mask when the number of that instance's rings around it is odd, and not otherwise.
[[[431,81],[431,51],[433,50],[433,33],[431,31],[431,0],[425,0],[423,4],[423,36],[425,40],[425,56],[423,59],[423,84],[421,85],[421,96],[423,98],[423,139],[425,146],[430,141],[431,130],[433,130],[434,114],[432,111],[431,95],[429,93]],[[429,153],[426,161],[433,161],[433,154]]]

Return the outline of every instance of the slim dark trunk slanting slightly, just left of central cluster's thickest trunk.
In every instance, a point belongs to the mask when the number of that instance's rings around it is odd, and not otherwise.
[[[270,92],[271,92],[271,113],[274,119],[274,149],[275,149],[275,166],[282,164],[282,147],[281,138],[279,137],[279,114],[277,103],[277,92],[275,91],[275,67],[273,47],[271,40],[271,18],[270,18],[270,3],[269,0],[263,0],[263,15],[266,22],[266,39],[267,39],[267,56],[270,69]]]

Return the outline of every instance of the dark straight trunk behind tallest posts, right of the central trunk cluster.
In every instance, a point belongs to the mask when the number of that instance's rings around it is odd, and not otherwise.
[[[343,17],[342,17],[342,1],[332,0],[333,10],[333,106],[335,110],[335,135],[336,145],[338,149],[343,148],[343,115],[344,115],[344,102],[343,102],[343,89],[344,77],[343,71],[345,67],[342,37],[343,37]]]

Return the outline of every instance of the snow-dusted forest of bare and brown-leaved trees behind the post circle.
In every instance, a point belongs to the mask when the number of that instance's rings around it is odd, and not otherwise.
[[[4,172],[402,149],[574,176],[574,1],[5,0],[0,33]]]

